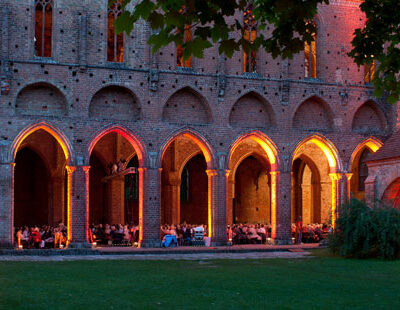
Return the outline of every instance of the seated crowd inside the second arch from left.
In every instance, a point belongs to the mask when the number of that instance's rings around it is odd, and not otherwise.
[[[102,224],[89,226],[89,241],[97,245],[137,245],[139,226],[122,224]]]

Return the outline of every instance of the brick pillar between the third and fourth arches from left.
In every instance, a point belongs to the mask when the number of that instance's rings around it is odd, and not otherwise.
[[[208,236],[212,246],[226,245],[229,170],[206,170],[208,176]]]

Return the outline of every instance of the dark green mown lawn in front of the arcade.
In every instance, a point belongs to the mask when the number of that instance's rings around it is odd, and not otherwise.
[[[0,309],[400,309],[400,261],[0,262]]]

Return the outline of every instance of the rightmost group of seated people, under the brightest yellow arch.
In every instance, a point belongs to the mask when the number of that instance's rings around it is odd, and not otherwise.
[[[292,224],[292,240],[295,243],[318,243],[326,239],[332,231],[328,224]]]

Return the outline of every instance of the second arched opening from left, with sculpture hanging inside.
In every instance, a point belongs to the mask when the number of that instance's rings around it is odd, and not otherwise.
[[[138,179],[135,176],[138,174],[137,169],[135,173],[127,171],[128,167],[139,166],[137,146],[116,130],[110,130],[97,138],[90,152],[89,222],[94,225],[125,225],[133,224],[131,220],[136,218],[137,223],[139,215],[133,215],[130,207],[134,207],[131,203],[133,200],[136,206],[139,204],[138,182],[132,185],[137,191],[135,197],[126,192],[131,190],[130,184],[127,187],[131,178],[135,181]],[[136,210],[138,212],[138,207]]]

